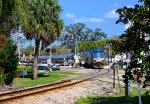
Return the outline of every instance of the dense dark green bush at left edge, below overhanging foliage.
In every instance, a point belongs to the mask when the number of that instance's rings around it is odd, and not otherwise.
[[[16,49],[17,47],[12,40],[6,40],[4,46],[0,49],[0,69],[1,72],[4,72],[4,82],[7,85],[12,84],[15,78],[18,64]]]

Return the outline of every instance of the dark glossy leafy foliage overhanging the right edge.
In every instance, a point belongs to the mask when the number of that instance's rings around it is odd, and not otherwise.
[[[130,23],[130,27],[128,27],[126,32],[122,35],[125,39],[124,49],[132,52],[132,60],[133,62],[136,61],[134,65],[130,65],[129,71],[135,67],[141,68],[141,76],[145,76],[145,81],[150,82],[150,58],[144,55],[150,51],[150,42],[146,42],[145,40],[145,34],[150,34],[150,1],[139,0],[139,2],[140,3],[134,7],[119,8],[117,10],[119,19],[116,23]],[[138,64],[137,59],[141,59],[142,63]]]

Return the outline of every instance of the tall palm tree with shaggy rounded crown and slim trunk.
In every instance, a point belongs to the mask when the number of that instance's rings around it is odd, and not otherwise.
[[[15,7],[26,38],[35,40],[33,79],[37,79],[40,42],[44,49],[57,39],[63,29],[63,21],[60,19],[61,7],[56,0],[17,0]]]

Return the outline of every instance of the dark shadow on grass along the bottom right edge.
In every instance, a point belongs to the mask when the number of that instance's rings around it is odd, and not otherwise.
[[[138,96],[134,96],[129,100],[126,100],[124,96],[121,97],[97,97],[89,98],[89,104],[139,104]],[[149,102],[150,95],[142,96],[142,104],[150,104]]]

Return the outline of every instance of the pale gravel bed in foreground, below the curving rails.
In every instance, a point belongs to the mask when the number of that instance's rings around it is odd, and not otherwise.
[[[67,88],[24,97],[7,104],[74,104],[81,97],[112,94],[112,84],[100,79],[95,78]]]

